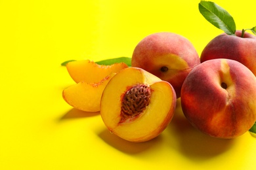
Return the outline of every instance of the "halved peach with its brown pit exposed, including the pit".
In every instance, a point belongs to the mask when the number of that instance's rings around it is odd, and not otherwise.
[[[154,139],[167,127],[176,107],[169,82],[144,69],[129,67],[108,82],[100,115],[110,132],[132,142]]]

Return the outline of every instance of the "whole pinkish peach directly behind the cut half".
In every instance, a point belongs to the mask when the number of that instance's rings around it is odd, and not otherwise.
[[[153,33],[142,39],[131,59],[132,67],[140,67],[171,83],[177,98],[184,79],[199,63],[192,43],[181,35],[168,32]]]

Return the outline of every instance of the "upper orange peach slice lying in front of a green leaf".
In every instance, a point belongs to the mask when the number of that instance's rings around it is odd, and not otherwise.
[[[97,83],[111,73],[117,73],[128,66],[125,63],[99,65],[89,59],[71,61],[66,65],[68,73],[75,82]]]

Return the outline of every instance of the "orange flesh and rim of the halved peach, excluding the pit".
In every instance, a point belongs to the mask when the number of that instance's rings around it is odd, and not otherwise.
[[[110,80],[103,92],[100,105],[102,120],[112,133],[127,141],[142,142],[153,139],[173,118],[176,106],[175,91],[171,84],[142,69],[133,67],[120,73]],[[127,77],[123,78],[124,75]],[[136,84],[147,84],[150,87],[150,103],[138,116],[123,121],[122,96]]]

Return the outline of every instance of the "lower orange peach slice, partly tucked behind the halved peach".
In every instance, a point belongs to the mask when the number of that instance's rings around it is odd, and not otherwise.
[[[106,84],[116,73],[106,76],[98,83],[79,82],[62,92],[63,99],[75,109],[97,112],[100,110],[100,98]]]

